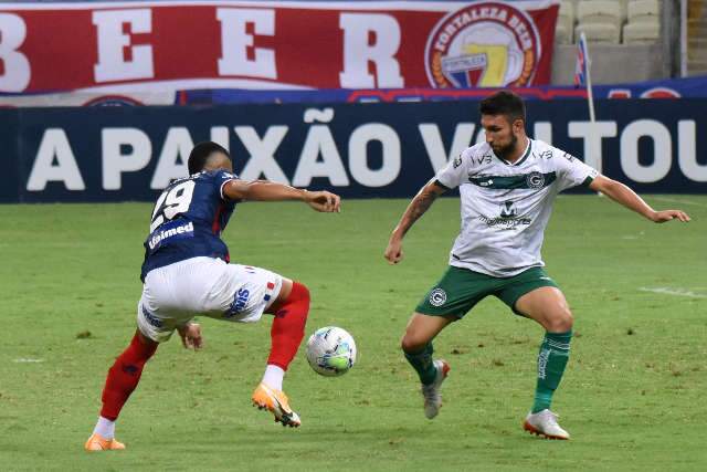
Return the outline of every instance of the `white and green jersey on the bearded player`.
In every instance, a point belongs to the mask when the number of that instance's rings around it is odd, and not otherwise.
[[[510,164],[486,143],[464,150],[436,175],[460,188],[462,230],[450,265],[508,277],[545,263],[540,256],[555,197],[589,185],[598,171],[540,140],[528,139],[523,157]]]

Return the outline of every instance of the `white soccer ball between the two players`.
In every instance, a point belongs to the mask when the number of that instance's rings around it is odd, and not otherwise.
[[[317,329],[307,340],[307,361],[315,373],[336,377],[356,364],[356,343],[345,329],[327,326]]]

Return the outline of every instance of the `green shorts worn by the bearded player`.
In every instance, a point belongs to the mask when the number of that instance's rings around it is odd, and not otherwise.
[[[515,314],[524,316],[516,311],[516,302],[526,293],[541,286],[558,286],[542,268],[530,268],[511,277],[494,277],[450,265],[415,311],[425,315],[452,315],[462,318],[478,302],[494,295]]]

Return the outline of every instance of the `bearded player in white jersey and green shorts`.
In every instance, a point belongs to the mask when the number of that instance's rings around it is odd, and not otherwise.
[[[450,366],[432,358],[432,339],[461,319],[487,295],[500,298],[516,314],[545,329],[538,355],[535,402],[524,422],[531,433],[569,439],[550,411],[570,353],[572,314],[540,259],[542,237],[555,197],[587,186],[662,223],[689,221],[679,210],[655,211],[623,183],[600,175],[569,154],[525,132],[523,99],[498,92],[481,103],[486,141],[464,150],[412,199],[390,237],[386,259],[399,263],[402,240],[412,224],[446,190],[462,199],[462,230],[450,254],[450,266],[418,305],[402,338],[405,358],[422,382],[424,412],[434,418],[442,406],[440,387]]]

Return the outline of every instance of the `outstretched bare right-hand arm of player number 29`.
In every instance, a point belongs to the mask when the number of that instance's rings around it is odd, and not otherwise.
[[[223,187],[223,195],[236,201],[299,200],[316,211],[341,211],[341,198],[328,191],[307,191],[270,180],[231,180]]]

